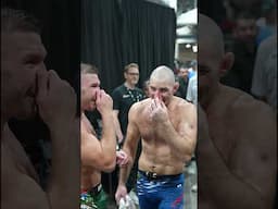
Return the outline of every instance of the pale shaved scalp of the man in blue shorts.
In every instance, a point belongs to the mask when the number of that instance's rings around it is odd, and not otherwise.
[[[165,66],[157,66],[156,69],[153,70],[151,76],[150,76],[150,81],[160,81],[160,82],[165,82],[168,84],[175,84],[175,75],[174,72]]]

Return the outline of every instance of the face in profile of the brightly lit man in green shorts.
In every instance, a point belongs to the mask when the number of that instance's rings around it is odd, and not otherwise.
[[[81,74],[81,107],[84,110],[96,108],[97,91],[100,90],[100,79],[97,74]]]

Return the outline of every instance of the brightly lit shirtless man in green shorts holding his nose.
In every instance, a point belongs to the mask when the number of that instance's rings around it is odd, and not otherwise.
[[[81,64],[81,200],[92,198],[91,208],[106,209],[106,195],[101,185],[101,171],[111,172],[116,164],[116,135],[112,98],[100,89],[97,69]],[[102,137],[97,134],[85,111],[98,109],[102,118]],[[117,152],[118,163],[126,163],[124,152]],[[119,162],[121,161],[121,162]],[[83,207],[83,206],[81,206]]]

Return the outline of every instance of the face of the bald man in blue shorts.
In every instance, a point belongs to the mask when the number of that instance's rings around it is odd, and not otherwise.
[[[173,95],[177,90],[175,84],[168,82],[160,82],[157,79],[150,81],[149,95],[152,99],[159,97],[166,106],[169,103]]]

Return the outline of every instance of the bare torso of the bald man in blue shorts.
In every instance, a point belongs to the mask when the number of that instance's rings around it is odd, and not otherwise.
[[[142,152],[139,159],[139,169],[142,171],[156,172],[161,175],[178,174],[184,170],[185,162],[175,156],[170,146],[157,137],[155,127],[150,118],[149,106],[151,99],[140,102],[137,114],[137,126],[142,138]],[[177,97],[167,107],[170,122],[175,130],[180,122],[180,111],[186,108],[187,101]],[[170,140],[170,138],[168,138]]]

